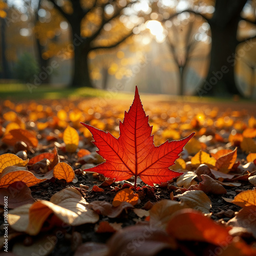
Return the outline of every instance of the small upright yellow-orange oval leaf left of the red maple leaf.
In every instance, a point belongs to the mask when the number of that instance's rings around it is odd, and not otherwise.
[[[66,144],[67,152],[75,152],[79,143],[79,135],[77,131],[68,125],[63,133],[63,141]]]

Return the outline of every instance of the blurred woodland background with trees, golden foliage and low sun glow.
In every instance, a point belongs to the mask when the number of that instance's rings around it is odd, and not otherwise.
[[[256,98],[256,0],[0,0],[0,88]]]

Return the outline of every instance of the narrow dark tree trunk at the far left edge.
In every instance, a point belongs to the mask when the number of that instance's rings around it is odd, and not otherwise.
[[[6,22],[4,18],[0,18],[1,20],[1,55],[2,55],[2,69],[1,71],[1,78],[9,79],[10,78],[10,69],[8,65],[8,61],[6,58],[6,37],[5,37],[5,29],[6,29]]]

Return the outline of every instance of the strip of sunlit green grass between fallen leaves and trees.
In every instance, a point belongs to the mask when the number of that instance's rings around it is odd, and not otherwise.
[[[166,102],[233,102],[232,98],[222,97],[203,97],[198,96],[175,96],[175,95],[153,95],[143,94],[143,101],[166,101]],[[29,100],[29,99],[79,99],[84,97],[101,97],[105,99],[117,99],[117,100],[132,100],[133,93],[104,91],[94,88],[67,88],[63,86],[54,87],[50,85],[40,84],[36,88],[29,90],[26,84],[11,83],[0,84],[0,100],[12,99],[12,100]],[[254,103],[253,100],[240,99],[240,102]]]

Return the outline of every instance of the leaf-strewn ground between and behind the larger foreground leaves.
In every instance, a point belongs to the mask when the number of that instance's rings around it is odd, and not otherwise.
[[[243,138],[248,137],[245,130],[256,128],[256,113],[255,108],[252,108],[252,105],[232,102],[229,104],[218,103],[218,105],[213,103],[202,104],[193,102],[143,103],[146,114],[150,116],[150,124],[153,125],[156,145],[163,143],[166,139],[182,139],[188,136],[191,132],[196,132],[196,142],[194,141],[190,145],[187,145],[187,150],[184,155],[182,155],[186,167],[185,169],[180,169],[181,172],[191,170],[198,174],[198,177],[194,179],[194,182],[190,182],[189,185],[197,185],[201,181],[199,170],[197,171],[197,168],[190,164],[191,158],[193,158],[193,156],[200,150],[207,153],[216,153],[218,150],[226,148],[234,150],[237,146],[236,162],[240,162],[237,163],[236,168],[233,167],[232,170],[229,170],[229,174],[239,173],[239,175],[244,175],[247,172],[253,173],[255,171],[251,165],[249,167],[248,165],[246,166],[246,157],[249,152],[252,152],[251,148],[241,146]],[[39,142],[37,146],[30,146],[29,148],[27,144],[24,145],[24,143],[20,143],[20,140],[17,140],[14,145],[8,145],[7,143],[2,142],[0,147],[1,155],[11,153],[23,156],[25,151],[27,157],[31,159],[38,154],[52,152],[54,146],[56,146],[60,162],[67,162],[75,170],[77,180],[74,181],[74,183],[67,183],[63,179],[59,180],[53,177],[45,182],[31,186],[30,189],[34,200],[49,201],[58,191],[65,188],[75,187],[88,203],[98,201],[112,203],[120,188],[125,186],[129,187],[131,186],[130,184],[133,184],[134,179],[132,178],[128,181],[113,182],[109,186],[101,186],[102,182],[105,180],[102,175],[83,172],[83,169],[90,168],[92,165],[98,164],[102,160],[95,154],[96,148],[91,143],[92,138],[90,134],[86,129],[83,129],[83,127],[79,125],[80,121],[89,122],[98,129],[110,131],[114,136],[118,137],[118,122],[123,119],[123,111],[127,109],[129,102],[125,105],[125,102],[115,100],[111,103],[103,101],[103,105],[100,106],[98,99],[79,101],[62,100],[58,102],[48,100],[47,102],[41,101],[36,103],[31,101],[15,102],[15,104],[12,101],[6,100],[1,106],[2,134],[0,134],[0,136],[2,137],[2,140],[6,136],[5,130],[7,130],[7,125],[16,123],[20,128],[32,132]],[[63,143],[63,141],[65,141],[63,139],[63,132],[68,124],[74,127],[79,134],[79,144],[76,146],[75,152],[67,152],[67,143]],[[18,128],[17,125],[13,125],[13,127],[15,129]],[[241,140],[238,135],[243,133],[244,136]],[[254,137],[250,139],[254,141]],[[77,152],[80,148],[86,148],[89,152],[92,152],[92,154],[84,155],[79,159]],[[247,150],[248,152],[246,152]],[[200,163],[206,165],[203,166],[204,168],[207,167],[207,164],[210,166],[207,161],[202,161]],[[40,165],[41,169],[39,168],[39,170],[45,168],[44,164],[46,163],[42,161]],[[209,170],[206,168],[201,174],[208,174],[213,177],[212,173],[209,174],[208,171]],[[220,180],[224,182],[229,181],[225,179]],[[222,195],[207,193],[207,196],[211,201],[210,212],[212,214],[210,218],[218,223],[222,223],[222,225],[225,225],[234,217],[234,213],[241,209],[240,206],[227,202],[227,200],[225,201],[223,198],[227,198],[231,201],[235,196],[241,193],[241,191],[247,191],[254,188],[254,185],[248,182],[248,177],[247,180],[245,178],[230,182],[240,183],[240,185],[225,185],[224,187],[227,193]],[[104,191],[93,191],[95,185],[103,188]],[[141,187],[143,185],[145,184],[141,182],[139,186]],[[140,200],[134,207],[137,209],[143,208],[144,210],[148,210],[156,202],[161,202],[163,200],[175,199],[177,202],[182,201],[182,198],[179,200],[175,197],[177,195],[183,195],[185,191],[187,191],[187,188],[184,188],[184,186],[177,187],[176,181],[169,184],[155,185],[154,189],[145,187],[142,190],[138,190]],[[97,230],[95,229],[96,226],[104,221],[108,223],[121,223],[122,228],[124,228],[126,226],[135,226],[137,222],[147,221],[147,217],[143,216],[140,218],[135,214],[135,211],[133,211],[132,208],[127,207],[121,211],[120,215],[116,218],[99,215],[99,221],[96,224],[87,223],[72,227],[69,225],[58,227],[52,225],[51,221],[47,221],[37,236],[29,236],[29,234],[23,232],[22,234],[17,235],[16,238],[10,240],[9,251],[13,250],[14,253],[17,253],[16,255],[25,255],[28,247],[33,248],[33,245],[36,247],[36,242],[40,236],[47,237],[49,234],[56,234],[56,232],[60,230],[63,233],[63,237],[58,239],[54,248],[47,253],[49,255],[73,255],[74,253],[76,253],[76,255],[82,255],[79,254],[79,250],[77,250],[81,244],[86,242],[105,243],[109,241],[112,236],[111,232],[101,233],[95,231]],[[4,218],[2,217],[1,224],[3,223]],[[110,229],[107,231],[110,231]],[[1,232],[1,235],[4,235],[3,225]],[[10,232],[15,233],[11,227]],[[255,244],[255,239],[252,236],[249,236],[245,231],[242,232],[241,237],[243,237],[248,244],[252,246]],[[208,243],[205,242],[183,241],[183,243],[185,244],[186,249],[189,248],[189,251],[192,251],[196,255],[206,255],[205,249],[207,248],[208,250]],[[42,242],[42,244],[44,244],[44,242]],[[24,245],[25,249],[23,247]],[[38,248],[35,250],[38,251]],[[187,250],[182,250],[180,248],[176,249],[176,252],[180,255],[191,255]],[[165,253],[167,253],[166,248],[158,254],[155,253],[149,255],[166,255]],[[115,255],[115,253],[112,252],[112,255]],[[118,253],[116,255],[118,255]],[[131,255],[137,254],[135,253]]]

